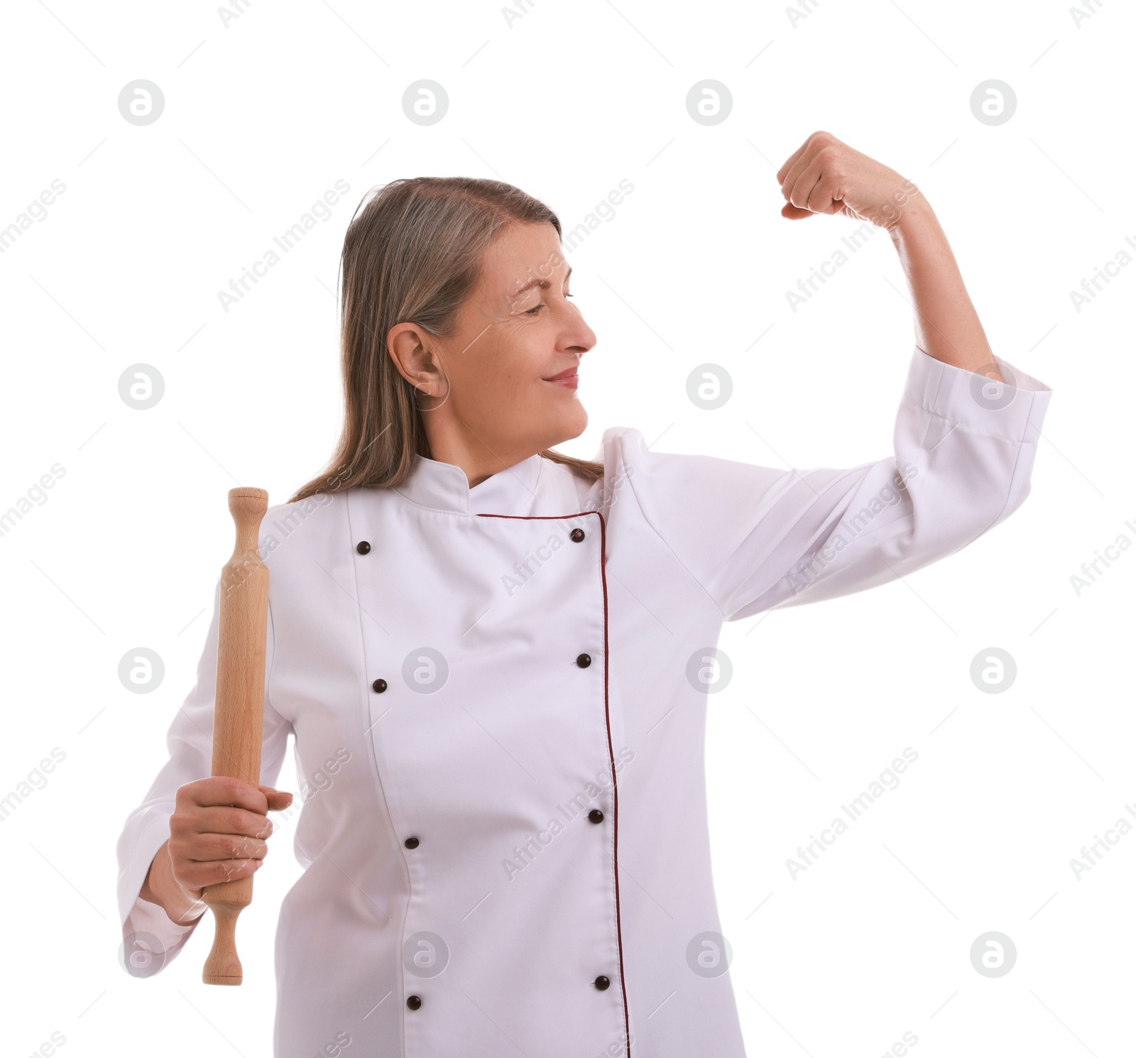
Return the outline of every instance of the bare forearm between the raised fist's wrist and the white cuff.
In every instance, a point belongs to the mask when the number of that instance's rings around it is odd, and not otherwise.
[[[913,191],[899,214],[888,232],[911,290],[916,344],[936,360],[1001,381],[986,332],[930,203]]]

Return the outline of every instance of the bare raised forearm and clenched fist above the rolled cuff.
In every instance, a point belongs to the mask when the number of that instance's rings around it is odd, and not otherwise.
[[[946,235],[910,180],[828,132],[809,136],[777,180],[783,217],[843,214],[883,227],[908,277],[916,344],[944,364],[1003,381]]]

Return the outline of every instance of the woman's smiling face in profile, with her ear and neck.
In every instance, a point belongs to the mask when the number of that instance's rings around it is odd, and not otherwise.
[[[576,373],[595,334],[571,301],[570,272],[551,224],[511,224],[483,257],[453,335],[404,323],[387,336],[418,386],[433,458],[462,466],[471,484],[587,426]]]

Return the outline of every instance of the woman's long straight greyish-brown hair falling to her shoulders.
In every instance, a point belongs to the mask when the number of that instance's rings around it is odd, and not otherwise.
[[[343,430],[326,468],[289,502],[318,492],[401,484],[415,453],[429,457],[415,388],[399,373],[386,335],[414,323],[446,338],[481,278],[482,257],[511,223],[560,220],[512,184],[463,176],[395,180],[359,203],[340,259]],[[545,449],[587,481],[603,465]]]

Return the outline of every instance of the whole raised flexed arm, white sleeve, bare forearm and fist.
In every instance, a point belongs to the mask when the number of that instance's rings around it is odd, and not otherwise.
[[[910,181],[827,132],[809,136],[777,178],[782,216],[841,213],[891,234],[917,345],[893,451],[871,463],[778,469],[652,451],[627,427],[604,433],[605,465],[626,476],[648,524],[726,620],[887,583],[1003,522],[1029,494],[1053,395],[995,359],[943,230]],[[875,364],[864,375],[866,385],[886,377]]]

